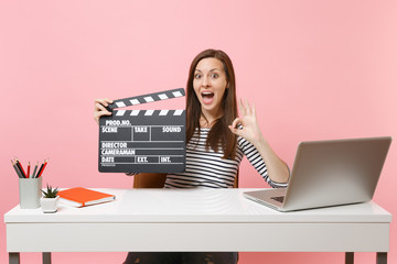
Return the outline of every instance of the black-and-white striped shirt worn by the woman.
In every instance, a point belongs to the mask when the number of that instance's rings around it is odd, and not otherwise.
[[[242,136],[237,139],[235,158],[222,158],[223,151],[205,150],[210,129],[201,129],[193,134],[186,144],[186,168],[184,173],[168,174],[165,188],[232,188],[239,164],[247,156],[250,164],[271,187],[287,187],[269,178],[266,164],[255,146]]]

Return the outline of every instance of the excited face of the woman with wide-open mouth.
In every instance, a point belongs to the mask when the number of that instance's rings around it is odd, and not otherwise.
[[[217,118],[222,112],[221,105],[227,87],[223,63],[213,57],[198,62],[193,78],[193,88],[205,117]]]

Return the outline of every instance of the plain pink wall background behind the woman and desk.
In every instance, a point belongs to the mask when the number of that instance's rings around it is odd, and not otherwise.
[[[18,205],[10,160],[50,157],[43,185],[130,188],[97,170],[95,98],[184,87],[192,58],[232,57],[238,96],[291,166],[305,140],[397,139],[397,1],[0,1],[0,212]],[[183,108],[169,101],[167,108]],[[149,108],[162,108],[152,105]],[[375,201],[397,213],[395,142]],[[266,187],[247,161],[240,187]],[[397,262],[396,224],[389,263]],[[45,234],[43,234],[45,235]],[[271,243],[264,238],[264,243]],[[40,254],[22,254],[37,263]],[[54,263],[121,263],[125,253],[54,253]],[[242,253],[240,263],[342,263],[343,253]],[[29,260],[29,261],[28,261]],[[374,263],[372,253],[356,254]],[[0,262],[7,263],[0,226]]]

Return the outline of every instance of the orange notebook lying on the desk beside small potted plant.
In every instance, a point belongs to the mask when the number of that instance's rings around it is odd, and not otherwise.
[[[61,202],[74,207],[92,206],[116,199],[114,195],[82,187],[60,190],[58,196]]]

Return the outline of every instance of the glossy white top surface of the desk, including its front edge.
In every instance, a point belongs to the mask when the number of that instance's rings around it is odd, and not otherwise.
[[[17,206],[4,222],[391,222],[391,215],[374,201],[279,212],[243,196],[253,189],[97,190],[116,195],[116,200],[85,208],[61,204],[56,213]]]

